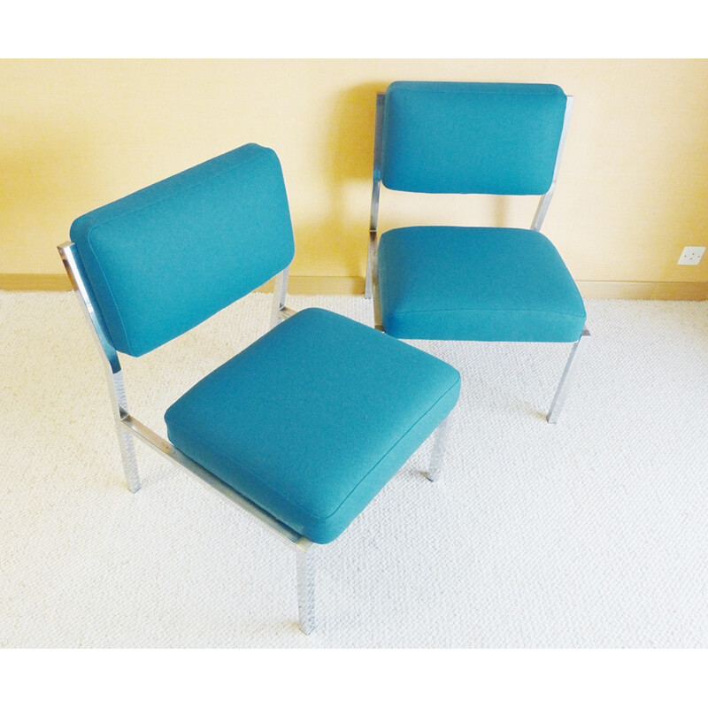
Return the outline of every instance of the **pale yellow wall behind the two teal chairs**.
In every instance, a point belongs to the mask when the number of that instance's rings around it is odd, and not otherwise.
[[[72,220],[230,150],[281,158],[294,275],[362,276],[374,94],[390,81],[538,81],[575,96],[544,233],[580,281],[708,281],[702,59],[0,60],[0,273],[63,273]],[[527,227],[526,198],[426,197],[430,220]],[[421,200],[382,195],[381,227]]]

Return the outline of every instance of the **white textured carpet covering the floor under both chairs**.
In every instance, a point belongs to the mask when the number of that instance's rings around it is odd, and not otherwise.
[[[140,360],[138,419],[265,332],[251,295]],[[291,296],[370,321],[360,297]],[[463,376],[440,481],[428,441],[319,547],[317,628],[293,551],[138,445],[120,468],[73,294],[0,293],[0,647],[708,647],[708,303],[589,301],[568,345],[426,342]]]

